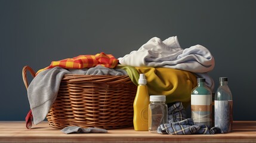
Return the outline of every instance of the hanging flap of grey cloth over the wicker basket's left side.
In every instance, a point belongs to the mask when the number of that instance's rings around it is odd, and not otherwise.
[[[60,81],[64,74],[70,74],[70,71],[61,67],[41,71],[27,88],[27,97],[35,125],[42,122],[47,116],[51,105],[57,98]]]

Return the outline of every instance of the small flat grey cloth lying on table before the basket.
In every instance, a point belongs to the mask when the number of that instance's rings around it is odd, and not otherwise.
[[[63,133],[107,133],[106,129],[98,129],[98,128],[81,128],[79,126],[68,126],[62,130]]]

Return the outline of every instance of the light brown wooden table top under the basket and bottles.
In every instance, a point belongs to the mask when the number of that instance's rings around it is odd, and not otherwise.
[[[0,142],[256,142],[256,121],[235,121],[233,132],[215,135],[161,135],[133,128],[65,134],[47,122],[32,129],[26,129],[25,122],[0,122]]]

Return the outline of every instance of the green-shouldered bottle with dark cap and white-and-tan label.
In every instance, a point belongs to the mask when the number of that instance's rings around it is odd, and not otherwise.
[[[212,126],[212,92],[204,78],[198,78],[198,86],[192,90],[191,117],[196,125]]]

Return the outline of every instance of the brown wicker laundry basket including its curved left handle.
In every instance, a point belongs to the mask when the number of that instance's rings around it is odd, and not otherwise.
[[[23,80],[27,88],[26,70]],[[133,102],[137,87],[129,76],[66,74],[47,120],[53,128],[81,126],[118,129],[132,126]]]

